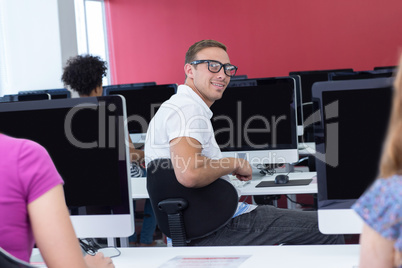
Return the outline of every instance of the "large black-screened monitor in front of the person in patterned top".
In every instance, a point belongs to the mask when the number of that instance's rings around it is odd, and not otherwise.
[[[318,223],[325,234],[360,233],[350,208],[378,176],[392,103],[392,78],[313,85]]]

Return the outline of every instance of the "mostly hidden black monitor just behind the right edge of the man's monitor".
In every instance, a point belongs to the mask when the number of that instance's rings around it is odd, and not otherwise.
[[[314,142],[314,128],[311,124],[313,118],[310,116],[314,112],[314,107],[312,105],[311,99],[311,89],[315,82],[328,81],[328,74],[334,72],[352,72],[353,69],[328,69],[328,70],[313,70],[313,71],[298,71],[289,72],[292,77],[299,77],[300,79],[300,89],[302,98],[302,113],[303,113],[303,136],[301,137],[301,142]]]

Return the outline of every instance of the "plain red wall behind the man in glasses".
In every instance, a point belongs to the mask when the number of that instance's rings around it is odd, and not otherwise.
[[[201,39],[228,46],[238,74],[396,65],[401,0],[105,0],[112,84],[184,81]]]

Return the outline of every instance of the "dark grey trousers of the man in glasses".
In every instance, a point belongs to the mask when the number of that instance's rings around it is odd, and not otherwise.
[[[260,205],[233,218],[217,232],[190,242],[192,246],[343,244],[343,235],[318,230],[316,211],[280,209]]]

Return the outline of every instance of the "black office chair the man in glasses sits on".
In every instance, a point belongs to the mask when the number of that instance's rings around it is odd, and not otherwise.
[[[174,247],[186,246],[226,225],[239,200],[236,189],[224,179],[201,188],[181,185],[172,161],[162,158],[148,164],[147,190],[159,229]]]

